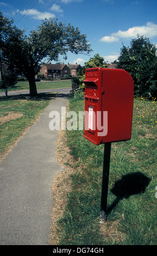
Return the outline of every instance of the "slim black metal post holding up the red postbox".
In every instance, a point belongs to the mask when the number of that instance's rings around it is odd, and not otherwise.
[[[106,206],[108,199],[108,185],[109,185],[109,170],[110,170],[110,154],[111,142],[104,144],[104,163],[103,163],[103,178],[102,178],[102,197],[101,197],[101,220],[103,224],[106,218]]]

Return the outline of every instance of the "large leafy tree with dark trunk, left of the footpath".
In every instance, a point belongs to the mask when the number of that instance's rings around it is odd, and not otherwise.
[[[45,19],[29,36],[9,21],[0,12],[0,50],[3,63],[20,69],[29,81],[30,96],[36,96],[35,75],[43,58],[57,61],[59,54],[67,57],[67,52],[89,54],[92,50],[86,35],[78,28]]]

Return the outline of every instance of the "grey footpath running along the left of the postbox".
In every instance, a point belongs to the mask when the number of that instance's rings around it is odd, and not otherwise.
[[[0,164],[0,245],[48,245],[51,185],[62,170],[55,148],[59,131],[49,130],[49,113],[66,106],[59,94]]]

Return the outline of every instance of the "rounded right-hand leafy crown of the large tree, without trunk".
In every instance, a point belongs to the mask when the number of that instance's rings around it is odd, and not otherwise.
[[[66,59],[67,51],[75,54],[89,54],[92,51],[86,35],[80,34],[78,27],[57,23],[56,19],[42,20],[37,30],[30,32],[28,41],[35,53],[35,63],[46,57],[49,61],[58,61],[59,54],[64,55]]]

